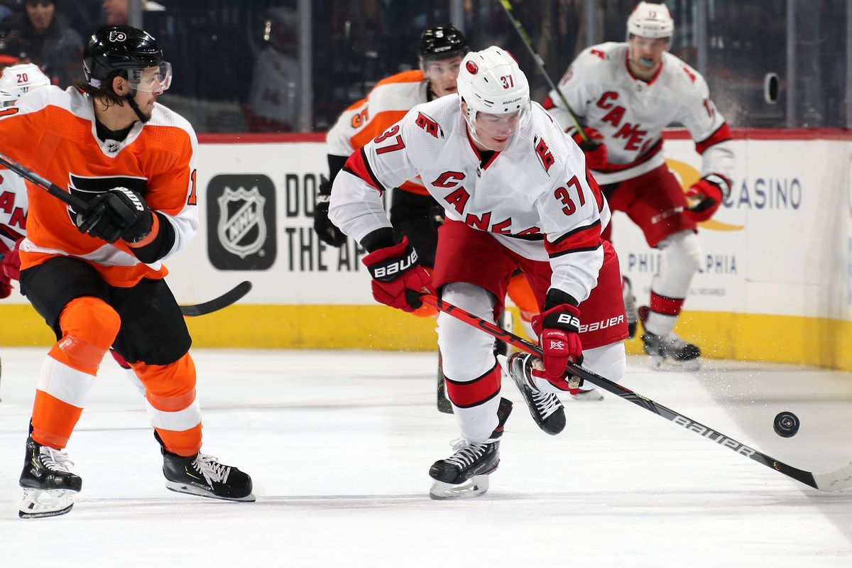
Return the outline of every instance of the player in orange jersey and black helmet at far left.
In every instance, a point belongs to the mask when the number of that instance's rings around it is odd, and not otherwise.
[[[161,106],[171,66],[157,41],[107,26],[83,55],[86,83],[38,89],[0,118],[0,152],[87,202],[75,211],[28,184],[20,288],[55,331],[32,410],[21,517],[67,513],[82,480],[64,448],[112,346],[147,389],[173,491],[253,501],[250,477],[201,453],[191,339],[162,261],[199,227],[197,141]]]

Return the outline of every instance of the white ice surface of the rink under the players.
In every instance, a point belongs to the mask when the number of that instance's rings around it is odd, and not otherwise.
[[[449,455],[435,355],[194,350],[204,450],[250,473],[255,503],[167,491],[139,393],[107,358],[68,450],[71,513],[17,518],[43,349],[3,349],[0,567],[852,566],[852,490],[825,493],[612,395],[540,432],[515,401],[491,490],[429,500]],[[852,460],[852,375],[630,359],[622,383],[797,468]],[[570,401],[568,401],[570,403]],[[772,429],[780,410],[796,437]]]

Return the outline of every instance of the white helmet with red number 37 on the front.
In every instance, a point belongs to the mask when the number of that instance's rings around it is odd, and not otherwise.
[[[530,85],[515,58],[495,46],[471,51],[458,71],[458,94],[467,104],[464,119],[476,139],[476,112],[507,114],[530,106]]]

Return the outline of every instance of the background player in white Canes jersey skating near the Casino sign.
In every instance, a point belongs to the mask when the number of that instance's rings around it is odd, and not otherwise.
[[[585,49],[559,89],[589,138],[586,163],[613,210],[624,211],[661,252],[648,307],[639,308],[650,364],[697,369],[700,349],[674,333],[700,249],[696,223],[706,221],[728,197],[734,152],[728,124],[710,99],[707,83],[667,52],[674,21],[665,4],[639,3],[627,20],[626,43]],[[544,107],[575,136],[561,98],[551,92]],[[684,195],[665,165],[662,129],[685,126],[702,155],[701,175]],[[689,203],[689,204],[688,204]]]

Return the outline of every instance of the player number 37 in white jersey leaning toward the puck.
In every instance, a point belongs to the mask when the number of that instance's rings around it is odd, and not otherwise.
[[[492,47],[467,55],[458,95],[415,106],[355,152],[331,192],[331,221],[369,251],[363,259],[377,301],[406,312],[418,293],[494,321],[521,267],[538,300],[533,320],[544,360],[516,353],[504,364],[547,433],[565,427],[556,393],[570,392],[567,361],[613,380],[625,369],[627,336],[618,258],[601,238],[609,209],[583,152],[529,99],[515,60]],[[446,213],[435,273],[394,232],[381,193],[417,175]],[[500,397],[492,336],[441,313],[438,344],[447,393],[463,439],[435,462],[435,498],[475,496],[497,468],[511,403]]]

